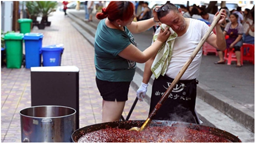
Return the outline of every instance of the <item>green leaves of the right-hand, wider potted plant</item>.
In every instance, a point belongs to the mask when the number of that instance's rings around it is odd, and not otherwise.
[[[36,1],[39,11],[42,17],[48,16],[51,12],[54,12],[58,3],[53,1]]]

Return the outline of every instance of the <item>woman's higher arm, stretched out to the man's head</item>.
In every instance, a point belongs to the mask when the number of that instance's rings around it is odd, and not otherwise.
[[[138,22],[133,21],[130,25],[127,26],[127,28],[132,34],[137,34],[137,33],[141,33],[148,30],[154,25],[155,25],[155,22],[153,21],[153,18],[150,18],[150,19],[142,20]]]

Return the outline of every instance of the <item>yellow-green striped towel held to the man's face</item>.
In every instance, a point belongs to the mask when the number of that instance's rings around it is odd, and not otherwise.
[[[158,52],[155,56],[155,60],[151,66],[151,71],[155,75],[156,79],[160,76],[160,74],[162,76],[164,76],[166,74],[167,68],[169,66],[169,63],[170,63],[171,57],[172,57],[174,41],[178,37],[178,35],[172,30],[172,28],[166,24],[161,24],[161,26],[160,26],[161,30],[164,31],[166,26],[169,27],[171,35],[168,38],[168,40],[166,41],[166,43],[163,44],[161,46],[161,48],[158,50]],[[153,36],[153,42],[157,39],[157,35],[159,33],[156,33]]]

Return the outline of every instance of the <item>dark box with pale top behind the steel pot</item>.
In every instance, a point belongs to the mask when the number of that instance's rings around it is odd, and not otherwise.
[[[31,67],[31,106],[38,105],[76,109],[76,129],[79,129],[79,69],[75,66]]]

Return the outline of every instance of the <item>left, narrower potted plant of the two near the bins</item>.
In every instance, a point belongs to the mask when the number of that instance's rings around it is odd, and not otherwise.
[[[33,21],[33,26],[38,25],[39,21],[37,21],[37,16],[39,15],[39,7],[36,2],[27,2],[26,3],[27,7],[27,13],[29,15],[29,18],[32,19]]]

